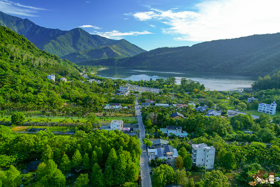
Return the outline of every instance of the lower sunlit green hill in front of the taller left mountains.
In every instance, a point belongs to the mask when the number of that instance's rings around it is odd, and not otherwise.
[[[112,45],[80,50],[69,55],[62,56],[61,58],[77,63],[90,59],[131,57],[144,51],[145,50],[140,49],[126,40],[119,40],[118,43]]]

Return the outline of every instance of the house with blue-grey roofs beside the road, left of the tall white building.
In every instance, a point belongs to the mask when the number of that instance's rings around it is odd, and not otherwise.
[[[148,149],[148,155],[149,162],[155,159],[155,157],[172,161],[178,157],[178,151],[173,146],[165,145],[157,149]]]

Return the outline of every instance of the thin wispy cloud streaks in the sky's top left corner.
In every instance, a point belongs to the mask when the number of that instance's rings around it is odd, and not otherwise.
[[[29,5],[22,5],[12,0],[0,1],[0,11],[7,14],[16,14],[21,16],[37,16],[38,11],[47,10],[45,8],[32,7]]]

